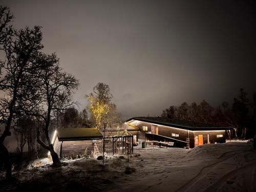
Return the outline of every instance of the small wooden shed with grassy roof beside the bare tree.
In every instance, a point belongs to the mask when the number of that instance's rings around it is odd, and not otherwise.
[[[59,157],[91,155],[97,141],[103,136],[97,128],[57,129],[52,143]]]

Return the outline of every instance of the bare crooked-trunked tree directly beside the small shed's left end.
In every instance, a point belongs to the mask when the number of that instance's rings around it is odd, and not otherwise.
[[[35,107],[31,109],[34,116],[44,123],[44,136],[47,143],[41,140],[40,130],[37,130],[37,142],[46,150],[50,151],[53,164],[60,165],[57,153],[54,151],[53,143],[50,139],[51,122],[56,118],[57,113],[63,113],[73,101],[74,91],[78,89],[78,80],[70,74],[63,72],[59,67],[59,59],[55,54],[41,54],[38,63],[42,67],[35,73],[37,99],[33,100]]]

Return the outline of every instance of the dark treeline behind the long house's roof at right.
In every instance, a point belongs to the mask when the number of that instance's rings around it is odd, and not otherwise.
[[[190,105],[183,102],[180,106],[170,106],[163,110],[161,117],[198,123],[207,123],[216,126],[230,126],[233,136],[237,138],[251,138],[256,130],[256,94],[249,99],[244,89],[240,89],[238,97],[233,103],[222,102],[217,108],[202,100]]]

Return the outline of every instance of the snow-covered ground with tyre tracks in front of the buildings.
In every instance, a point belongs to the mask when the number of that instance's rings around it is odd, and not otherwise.
[[[228,142],[183,148],[135,147],[126,159],[81,159],[60,168],[39,166],[16,173],[0,191],[256,191],[252,143]],[[125,172],[126,167],[126,172]],[[127,168],[128,167],[128,168]]]

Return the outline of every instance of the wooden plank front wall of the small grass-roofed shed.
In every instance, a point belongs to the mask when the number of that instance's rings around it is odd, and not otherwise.
[[[63,141],[61,157],[81,155],[86,152],[87,155],[91,155],[93,150],[93,141],[92,140],[83,140],[83,141]]]

